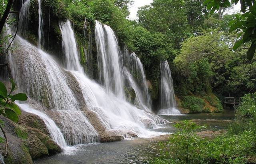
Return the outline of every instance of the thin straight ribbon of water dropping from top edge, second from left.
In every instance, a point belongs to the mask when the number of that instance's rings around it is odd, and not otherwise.
[[[44,44],[44,19],[42,16],[41,0],[38,0],[38,48]]]

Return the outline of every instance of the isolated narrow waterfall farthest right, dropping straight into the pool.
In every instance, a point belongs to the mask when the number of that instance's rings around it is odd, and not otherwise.
[[[161,70],[161,110],[158,114],[180,114],[176,109],[176,100],[173,88],[172,74],[168,62],[160,65]]]

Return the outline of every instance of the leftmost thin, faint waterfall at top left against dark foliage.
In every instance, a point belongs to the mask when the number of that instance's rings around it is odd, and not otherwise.
[[[21,9],[19,14],[19,34],[24,34],[28,28],[28,16],[29,16],[29,6],[30,6],[30,0],[26,0]]]

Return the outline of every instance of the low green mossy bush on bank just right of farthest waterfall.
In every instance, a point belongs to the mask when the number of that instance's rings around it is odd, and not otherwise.
[[[182,98],[181,107],[189,109],[192,113],[202,112],[205,102],[202,98],[195,96],[184,96]]]

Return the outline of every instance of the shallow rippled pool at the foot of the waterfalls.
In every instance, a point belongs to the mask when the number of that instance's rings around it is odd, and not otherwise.
[[[207,124],[208,130],[220,130],[228,126],[225,120],[234,119],[234,111],[226,110],[223,113],[200,113],[179,116],[161,116],[169,121],[153,131],[174,133],[172,126],[179,120],[197,120],[199,124]],[[214,120],[212,120],[214,119]],[[216,121],[219,120],[219,121]],[[153,154],[157,155],[158,142],[167,140],[168,135],[152,136],[149,138],[133,138],[120,142],[84,144],[73,147],[73,151],[66,154],[56,154],[40,160],[35,164],[138,164],[148,163]]]

